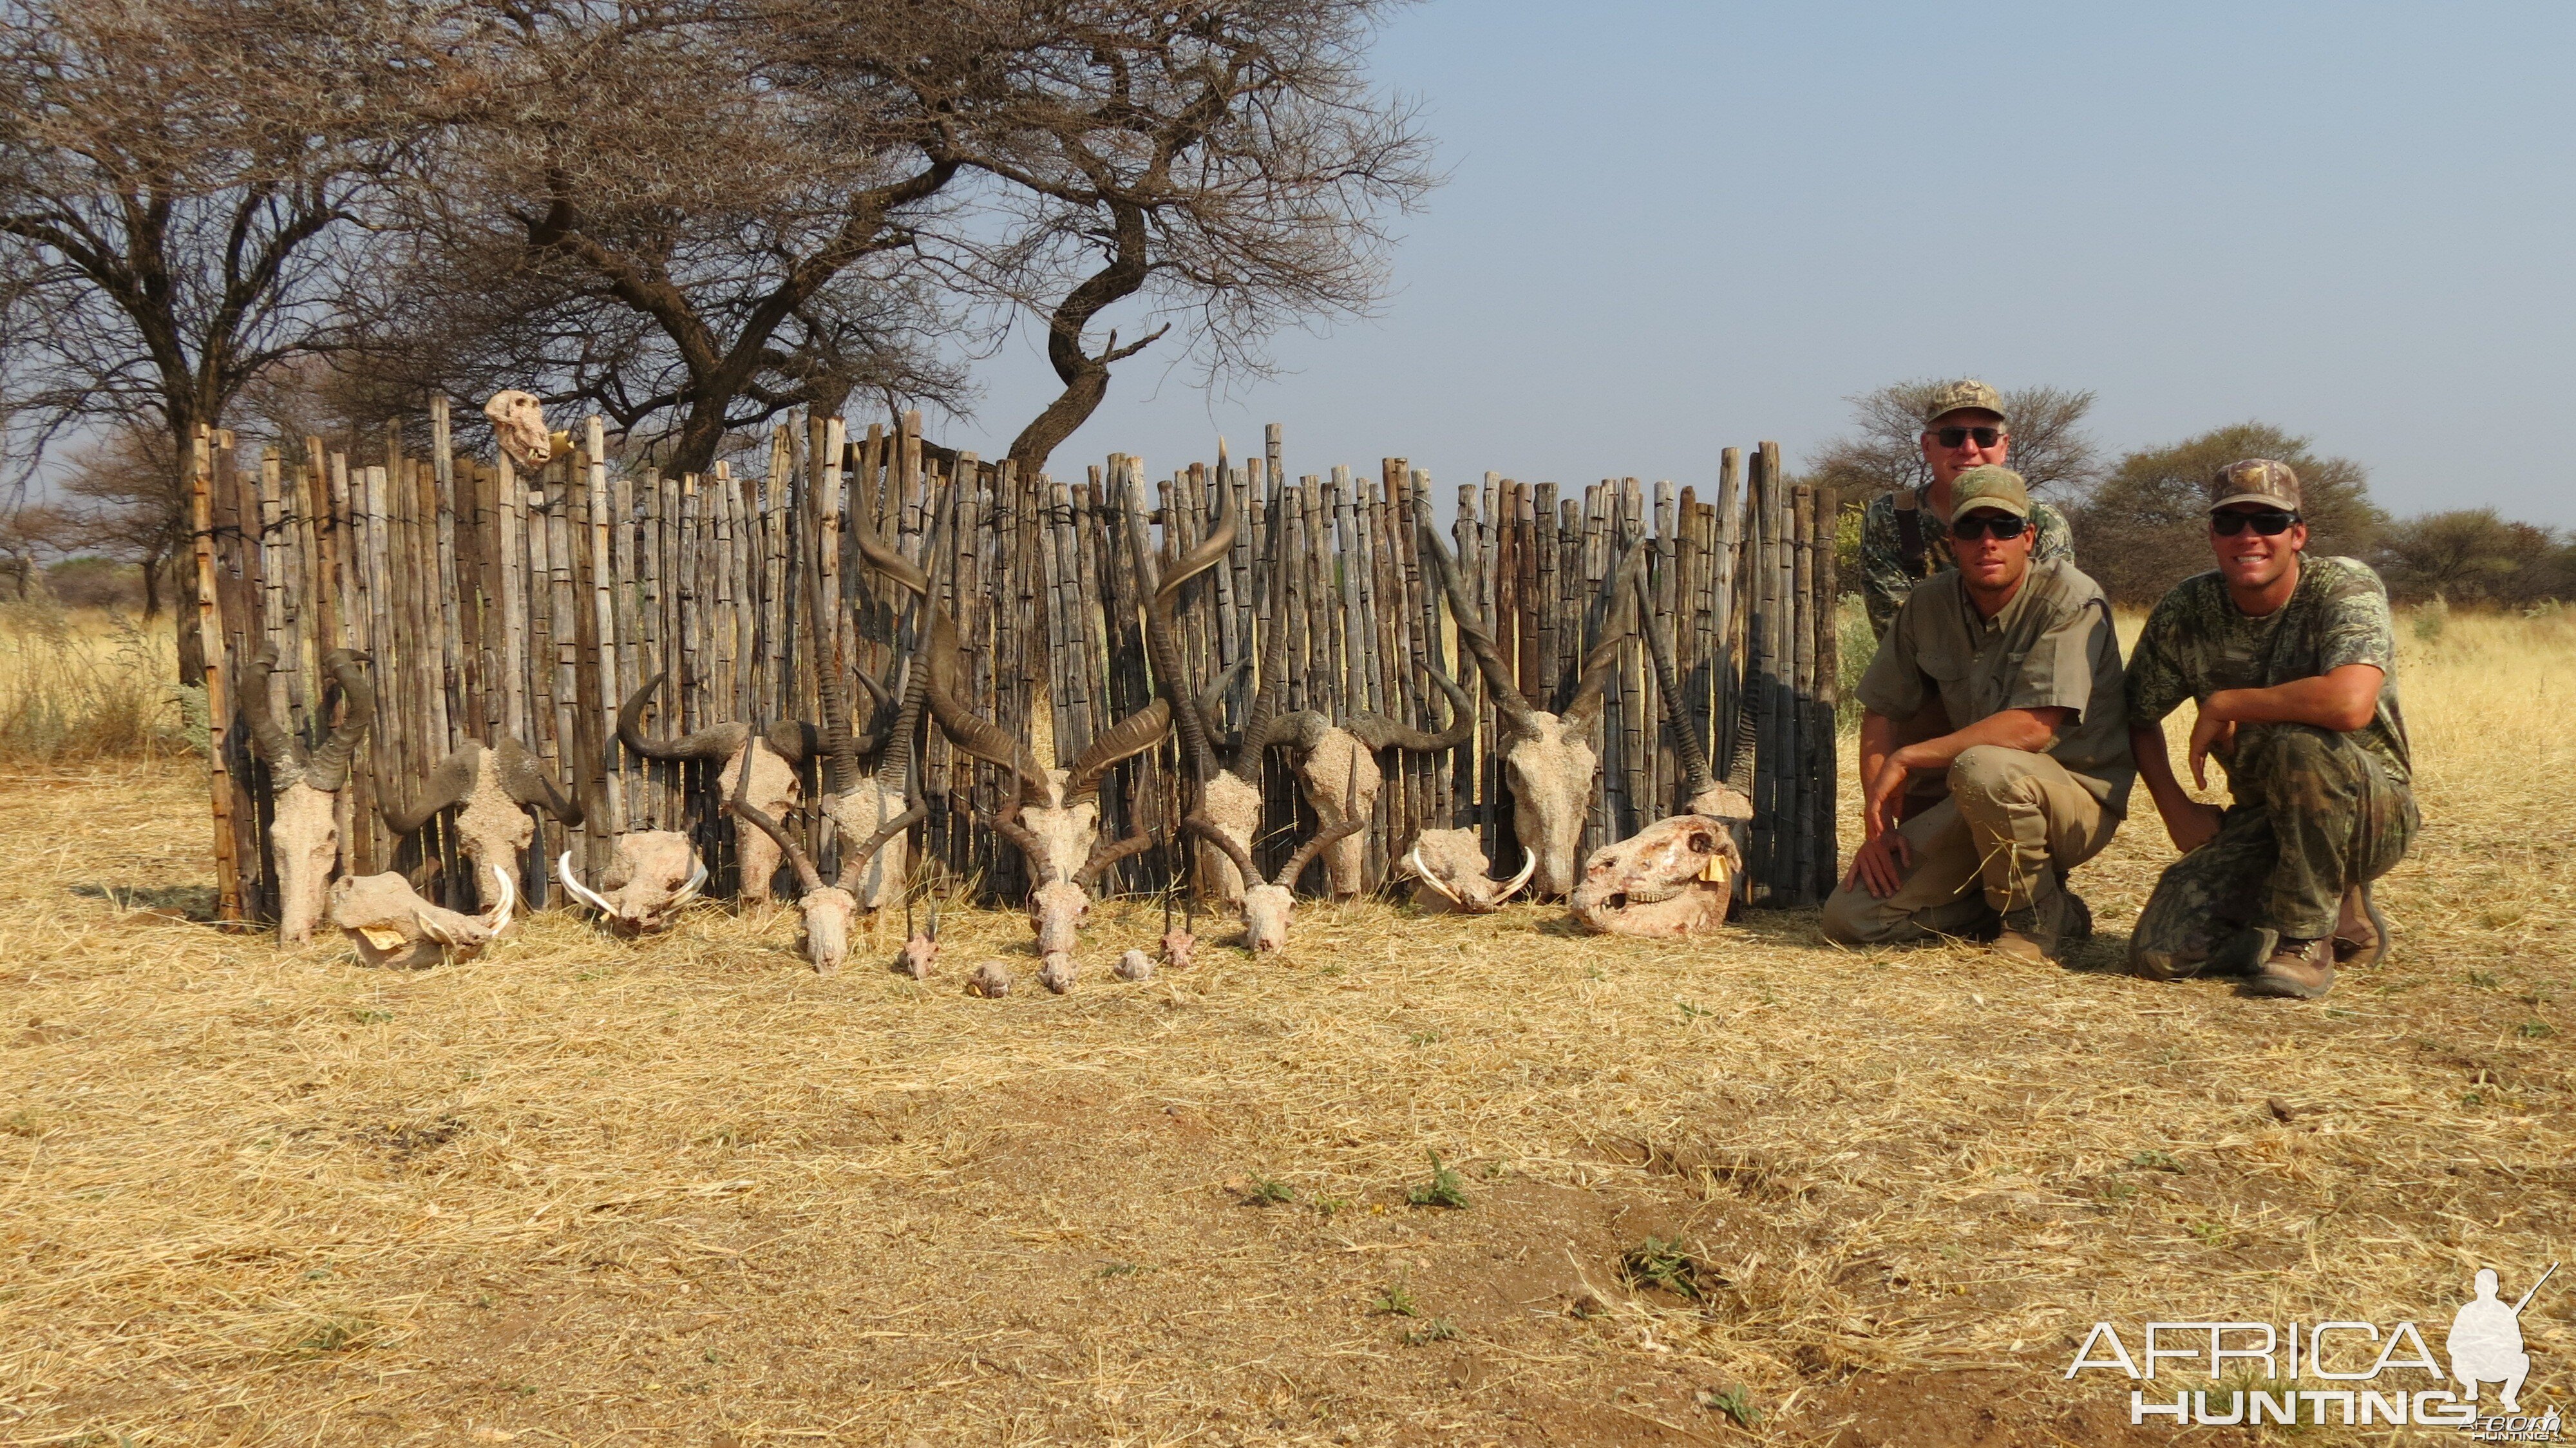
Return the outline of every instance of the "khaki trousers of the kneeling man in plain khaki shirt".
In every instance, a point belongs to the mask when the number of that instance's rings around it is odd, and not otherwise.
[[[1978,745],[1950,763],[1947,783],[1947,799],[1899,827],[1914,863],[1904,866],[1896,894],[1880,899],[1865,884],[1837,889],[1824,902],[1826,938],[1891,946],[1991,930],[1999,915],[2053,894],[2120,827],[2048,755]]]

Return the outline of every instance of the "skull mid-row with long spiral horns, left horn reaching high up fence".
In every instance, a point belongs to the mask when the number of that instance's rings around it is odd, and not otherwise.
[[[1121,760],[1159,745],[1172,727],[1172,709],[1157,698],[1103,729],[1074,757],[1072,768],[1041,768],[1028,742],[1012,739],[999,724],[974,714],[961,698],[958,621],[938,600],[930,575],[894,551],[866,523],[873,515],[873,500],[868,497],[866,474],[860,477],[860,508],[850,528],[858,551],[868,559],[868,567],[925,600],[927,639],[917,672],[930,716],[951,745],[1010,770],[1012,799],[999,814],[984,817],[984,822],[1028,861],[1028,876],[1036,881],[1028,897],[1028,917],[1038,933],[1038,953],[1069,956],[1082,920],[1090,915],[1090,889],[1100,879],[1100,871],[1151,845],[1151,835],[1141,827],[1126,840],[1100,837],[1100,781]],[[1059,969],[1048,984],[1064,989],[1072,984],[1072,974]]]

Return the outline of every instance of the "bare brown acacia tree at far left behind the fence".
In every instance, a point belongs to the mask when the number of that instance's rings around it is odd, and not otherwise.
[[[322,0],[0,8],[0,307],[26,456],[116,420],[183,459],[263,368],[353,332],[397,75],[368,13]]]

